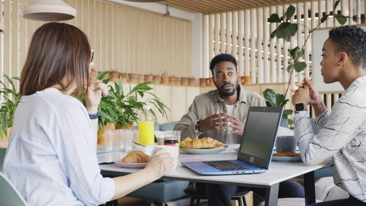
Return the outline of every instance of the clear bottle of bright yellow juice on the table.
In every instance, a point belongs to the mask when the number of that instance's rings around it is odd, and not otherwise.
[[[142,113],[138,118],[138,130],[140,130],[139,143],[143,145],[154,144],[155,119],[150,111],[150,106],[142,106]]]

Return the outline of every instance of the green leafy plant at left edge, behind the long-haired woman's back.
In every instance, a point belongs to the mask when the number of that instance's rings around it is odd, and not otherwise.
[[[0,89],[0,93],[3,95],[4,102],[1,103],[0,107],[0,139],[3,140],[4,133],[5,136],[8,136],[7,129],[8,127],[13,126],[13,119],[14,119],[14,113],[15,109],[18,106],[20,102],[20,95],[18,92],[15,91],[15,87],[13,84],[14,80],[20,80],[19,77],[11,77],[9,78],[6,74],[3,75],[3,77],[7,78],[9,83],[11,84],[11,89],[7,88],[5,84],[0,81],[1,85],[3,85],[3,88]]]

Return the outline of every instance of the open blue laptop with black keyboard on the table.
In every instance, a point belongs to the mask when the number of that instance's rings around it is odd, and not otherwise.
[[[272,159],[283,107],[249,107],[238,158],[220,161],[182,162],[201,175],[265,172]]]

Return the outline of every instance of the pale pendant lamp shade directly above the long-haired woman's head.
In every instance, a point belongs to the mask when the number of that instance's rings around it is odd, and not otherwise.
[[[35,0],[20,10],[25,19],[66,21],[76,16],[76,9],[61,0]]]

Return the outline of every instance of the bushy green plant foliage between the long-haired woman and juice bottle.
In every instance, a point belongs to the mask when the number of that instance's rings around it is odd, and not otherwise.
[[[97,79],[104,78],[108,72],[101,72],[98,74]],[[107,84],[110,78],[111,76],[103,80],[103,83]],[[129,80],[128,74],[127,79]],[[133,125],[134,122],[137,122],[138,116],[142,112],[142,106],[144,105],[155,105],[163,117],[168,119],[165,109],[169,110],[169,108],[156,95],[149,92],[153,89],[149,87],[149,84],[152,83],[153,81],[139,83],[134,88],[131,88],[130,84],[130,91],[127,94],[123,92],[122,78],[119,78],[118,82],[113,82],[112,85],[108,85],[108,95],[106,97],[102,96],[98,106],[98,133],[100,137],[102,137],[102,130],[107,123],[114,123],[115,126],[119,124],[122,128],[128,128],[127,123]],[[150,94],[153,98],[146,99],[143,102],[139,101],[138,98],[143,98],[145,94]],[[81,99],[84,98],[81,97]],[[86,105],[85,100],[83,100],[83,103]],[[150,111],[156,118],[154,111]]]

